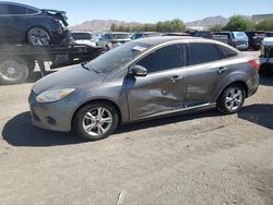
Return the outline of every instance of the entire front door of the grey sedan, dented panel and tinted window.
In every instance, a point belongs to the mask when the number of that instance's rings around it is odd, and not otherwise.
[[[136,62],[147,76],[127,79],[131,120],[182,109],[186,99],[186,45],[159,48]]]

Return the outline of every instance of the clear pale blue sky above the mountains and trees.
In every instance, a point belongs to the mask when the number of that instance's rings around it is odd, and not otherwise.
[[[173,19],[183,22],[207,16],[273,13],[273,0],[10,0],[39,9],[68,13],[71,26],[90,20],[156,23]]]

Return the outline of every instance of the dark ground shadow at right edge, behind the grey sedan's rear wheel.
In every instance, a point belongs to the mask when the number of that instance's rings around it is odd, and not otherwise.
[[[256,104],[246,106],[238,112],[238,117],[273,130],[273,105]]]

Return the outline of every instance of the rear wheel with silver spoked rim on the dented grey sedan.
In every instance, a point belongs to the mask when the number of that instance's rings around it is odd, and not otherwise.
[[[233,91],[235,93],[234,96],[232,96]],[[224,114],[233,114],[233,113],[238,112],[241,109],[241,107],[244,106],[245,99],[246,99],[245,87],[241,86],[240,84],[233,84],[233,85],[228,86],[221,94],[221,96],[217,100],[216,107]]]

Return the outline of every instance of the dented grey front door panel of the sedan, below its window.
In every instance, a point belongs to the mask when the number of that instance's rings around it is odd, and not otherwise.
[[[186,99],[185,68],[127,79],[130,120],[181,109]]]

